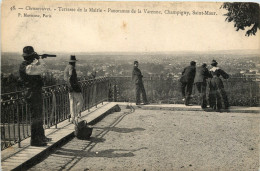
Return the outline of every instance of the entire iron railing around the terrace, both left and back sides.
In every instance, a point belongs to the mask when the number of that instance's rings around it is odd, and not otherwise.
[[[104,101],[135,102],[135,85],[131,77],[97,78],[80,81],[83,94],[83,110],[89,110]],[[177,78],[144,78],[144,86],[150,103],[181,104],[180,82]],[[231,77],[224,80],[225,90],[232,106],[259,106],[259,79]],[[197,103],[197,91],[193,86],[192,103]],[[1,95],[1,150],[30,136],[29,105],[24,92]],[[68,88],[65,84],[43,88],[44,127],[57,128],[57,124],[69,119]]]

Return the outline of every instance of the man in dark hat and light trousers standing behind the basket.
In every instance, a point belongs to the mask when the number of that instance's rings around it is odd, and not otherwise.
[[[67,65],[64,70],[64,80],[67,82],[69,87],[70,114],[72,123],[74,123],[75,119],[80,115],[83,106],[83,96],[81,94],[75,68],[76,61],[76,56],[71,55],[69,65]]]

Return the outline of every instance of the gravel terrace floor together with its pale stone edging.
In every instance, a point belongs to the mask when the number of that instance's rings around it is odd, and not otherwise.
[[[94,122],[117,104],[121,112]],[[82,116],[96,123],[89,141],[73,138],[54,148],[73,135],[73,125],[64,121],[46,130],[53,138],[47,147],[31,147],[27,139],[22,148],[2,151],[2,169],[27,169],[39,161],[30,170],[259,169],[259,108],[216,113],[199,106],[106,103]],[[39,160],[40,154],[48,157]]]

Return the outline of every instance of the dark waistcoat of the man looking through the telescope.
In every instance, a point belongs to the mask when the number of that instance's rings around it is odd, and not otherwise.
[[[23,61],[20,65],[20,81],[29,91],[41,91],[44,85],[42,77],[40,75],[26,74],[26,67],[30,64],[31,62]]]

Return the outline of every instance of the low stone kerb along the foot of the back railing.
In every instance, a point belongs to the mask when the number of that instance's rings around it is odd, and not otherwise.
[[[172,110],[172,111],[203,111],[199,105],[185,106],[184,104],[148,104],[148,105],[136,105],[129,102],[117,102],[118,105],[131,105],[135,108],[141,108],[143,110]],[[213,109],[205,109],[206,112],[214,112]],[[222,109],[220,112],[229,113],[260,113],[260,107],[242,107],[231,106],[228,110]]]

